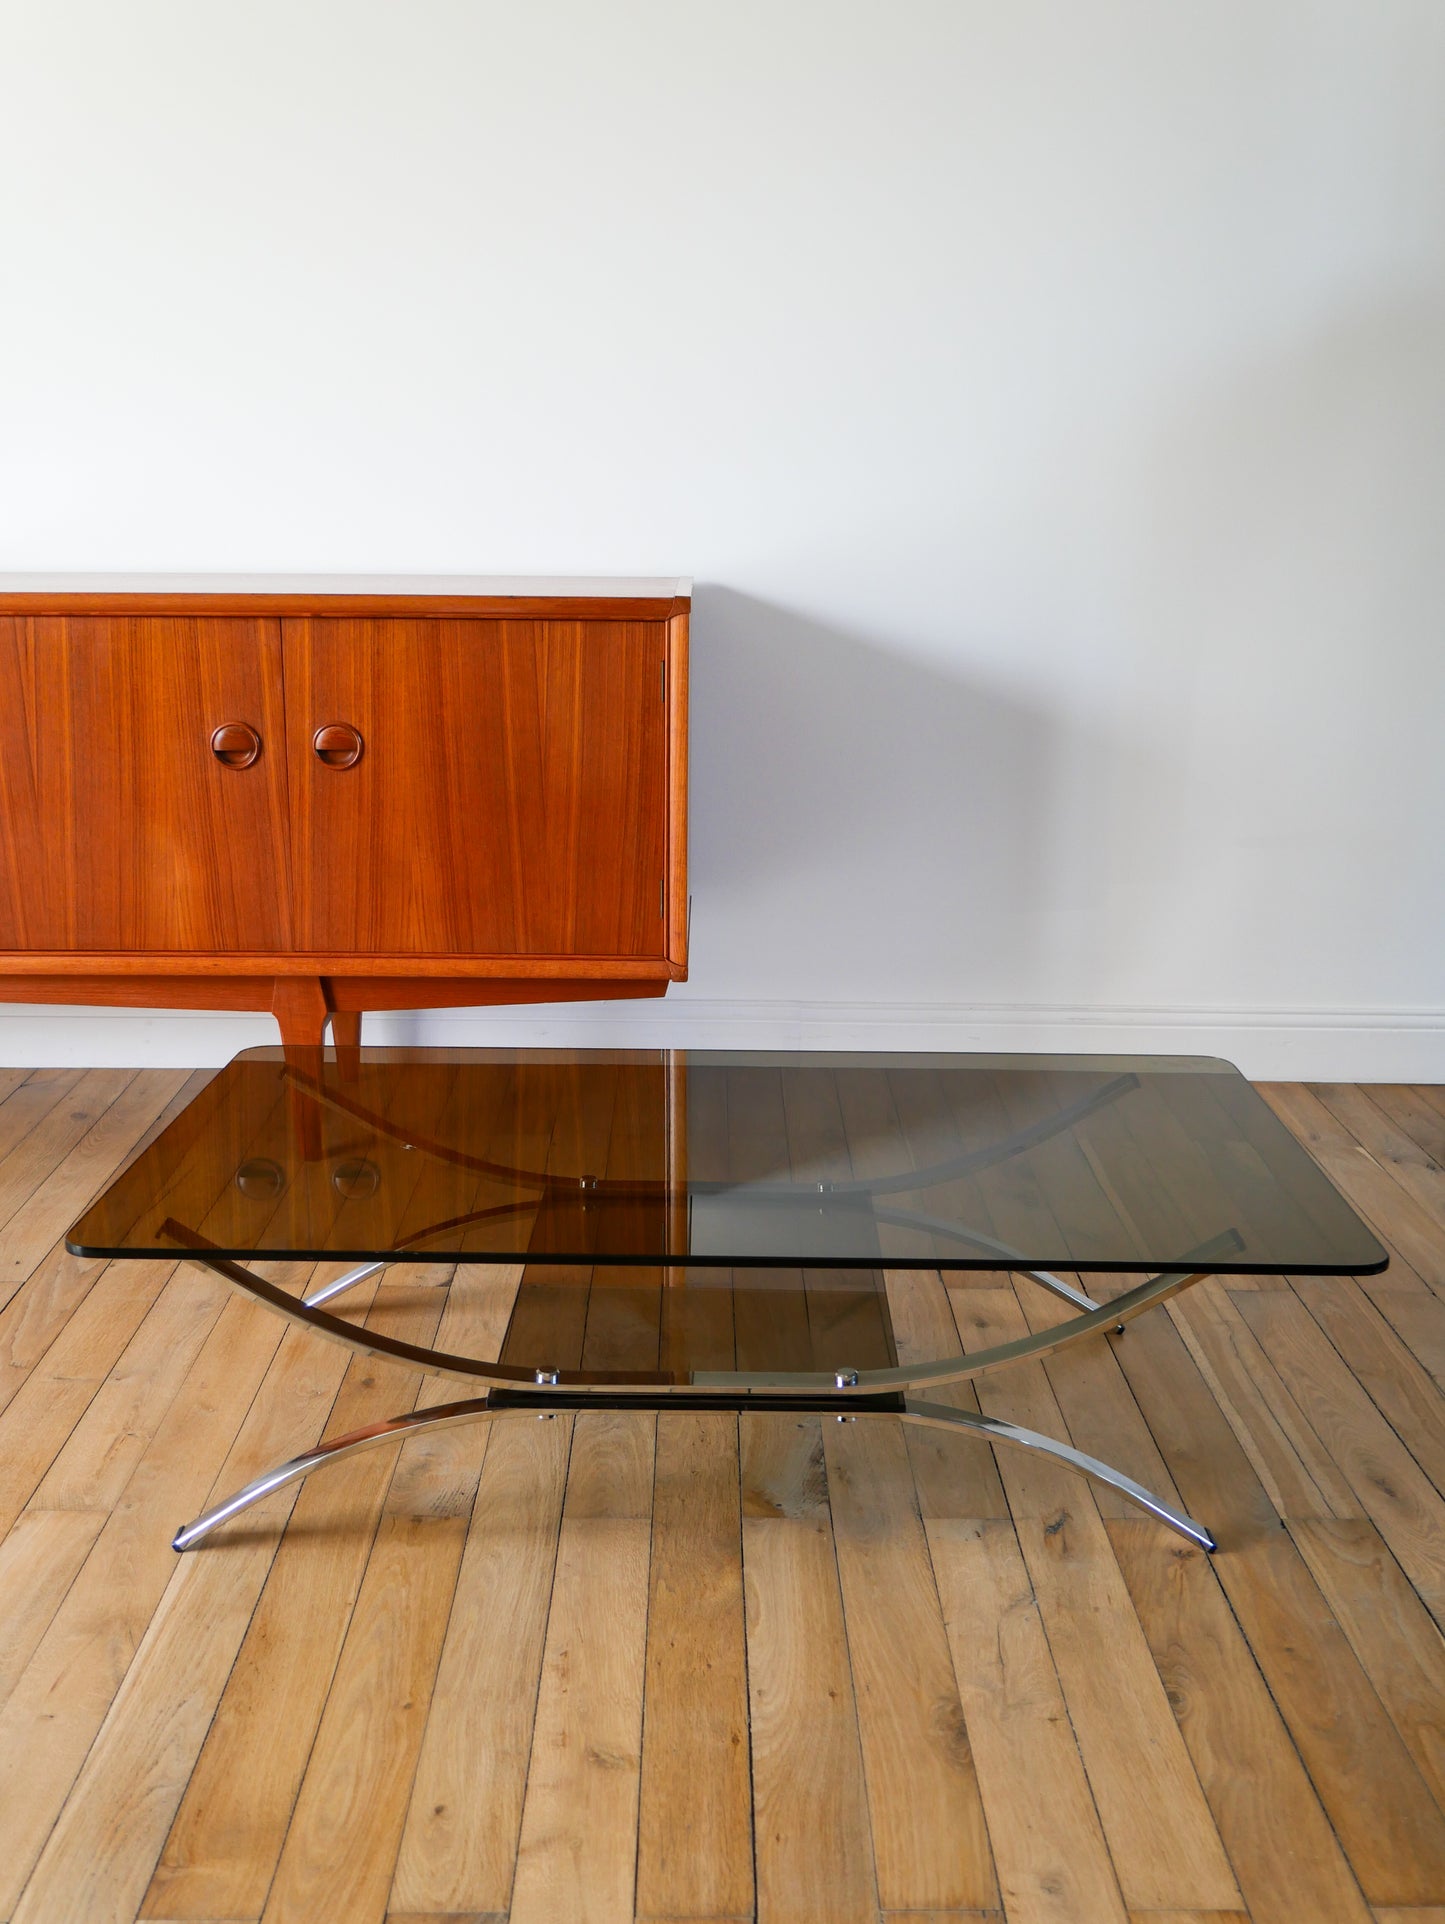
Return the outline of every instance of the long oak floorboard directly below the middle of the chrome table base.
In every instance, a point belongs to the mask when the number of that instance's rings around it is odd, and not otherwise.
[[[737,1418],[670,1410],[652,1485],[639,1918],[750,1916],[750,1803]]]

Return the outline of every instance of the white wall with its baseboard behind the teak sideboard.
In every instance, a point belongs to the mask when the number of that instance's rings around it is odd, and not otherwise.
[[[393,1033],[1445,1079],[1439,0],[0,0],[0,63],[2,568],[698,579],[693,981]]]

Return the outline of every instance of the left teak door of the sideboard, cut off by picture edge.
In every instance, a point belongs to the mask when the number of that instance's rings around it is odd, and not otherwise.
[[[285,760],[279,621],[0,616],[0,949],[291,949]]]

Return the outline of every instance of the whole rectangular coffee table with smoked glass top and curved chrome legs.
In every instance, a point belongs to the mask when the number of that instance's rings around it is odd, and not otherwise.
[[[177,1532],[177,1551],[421,1430],[677,1406],[893,1416],[1041,1451],[1214,1549],[1106,1462],[925,1393],[1122,1333],[1204,1276],[1387,1262],[1228,1062],[760,1051],[250,1049],[67,1249],[179,1251],[321,1337],[471,1387],[292,1456]],[[254,1260],[350,1268],[298,1295]],[[485,1281],[468,1351],[342,1314],[394,1262]],[[918,1270],[1006,1270],[1074,1314],[900,1356],[891,1301]]]

